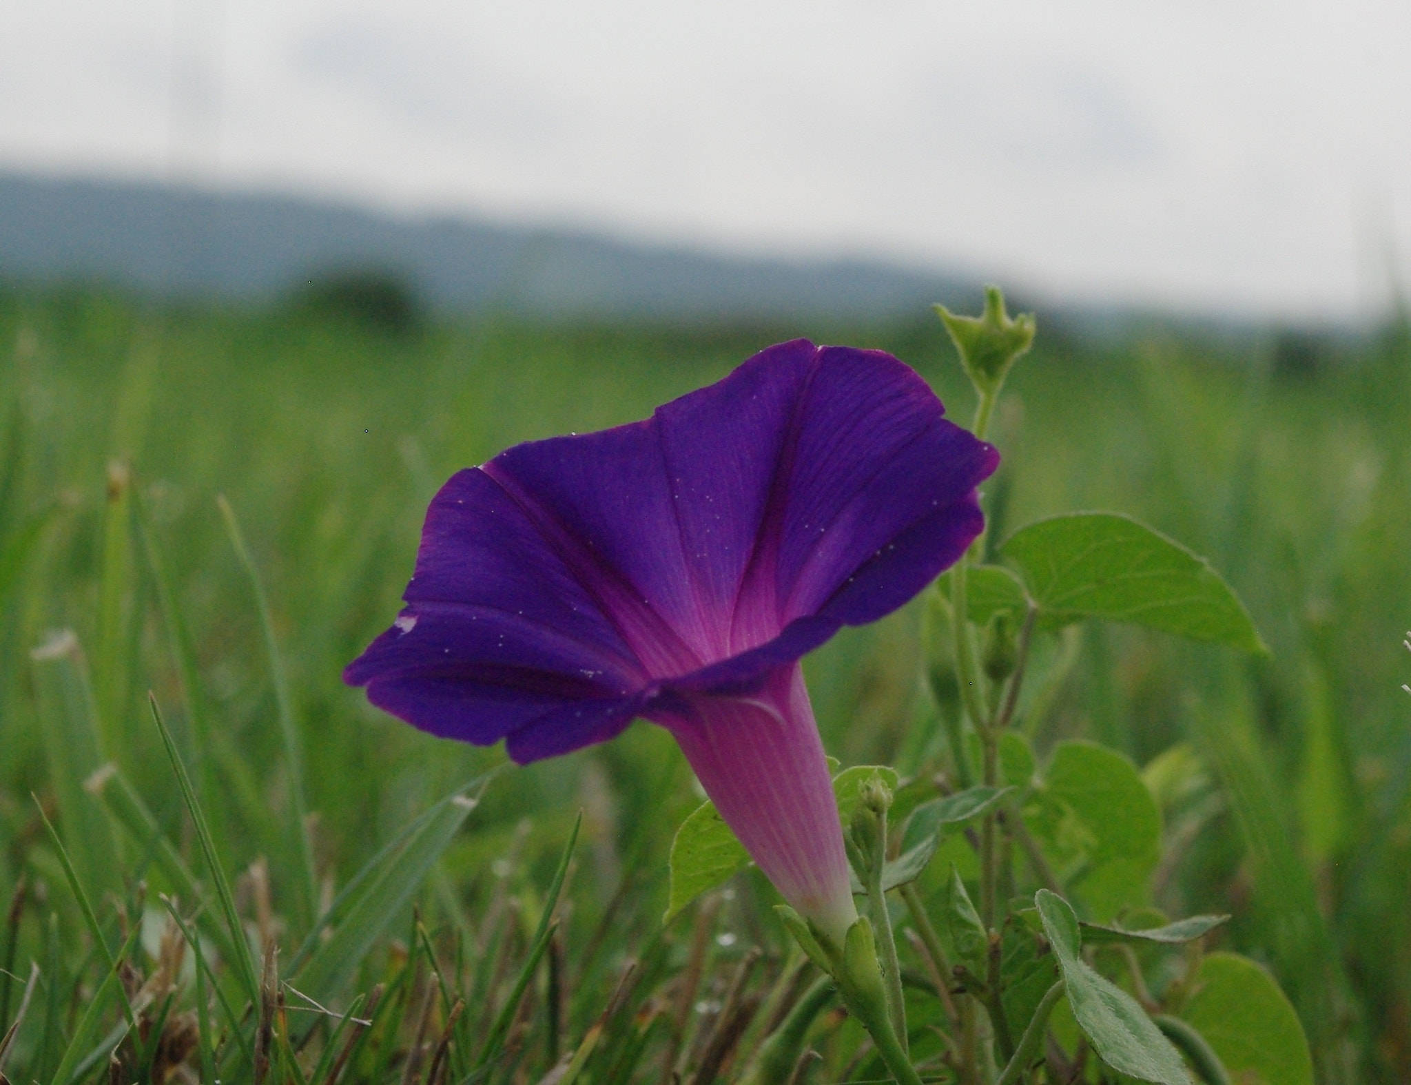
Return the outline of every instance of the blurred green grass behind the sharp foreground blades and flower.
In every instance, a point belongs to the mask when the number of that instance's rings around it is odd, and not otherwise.
[[[0,893],[8,900],[21,873],[32,895],[47,886],[13,961],[85,964],[80,919],[30,800],[52,814],[73,784],[56,779],[45,741],[65,708],[45,691],[45,660],[31,659],[54,629],[82,645],[103,756],[159,820],[179,823],[152,690],[203,782],[227,869],[265,856],[277,921],[298,911],[275,694],[217,495],[268,593],[315,866],[341,886],[411,817],[504,760],[420,735],[339,679],[395,615],[436,487],[514,442],[641,418],[796,336],[896,353],[968,423],[972,394],[928,313],[888,326],[670,327],[432,320],[336,291],[258,310],[0,291]],[[1005,457],[986,492],[995,540],[1048,514],[1129,512],[1209,557],[1270,645],[1268,659],[1245,662],[1141,631],[1053,638],[1037,649],[1027,727],[1041,749],[1086,735],[1139,765],[1188,744],[1205,786],[1164,797],[1174,858],[1157,900],[1235,914],[1221,937],[1291,992],[1328,1081],[1411,1079],[1408,420],[1404,322],[1364,337],[1157,322],[1095,337],[1040,313],[1038,344],[992,428]],[[134,497],[169,566],[205,735]],[[937,724],[917,677],[919,625],[913,605],[809,660],[825,745],[845,765],[923,763]],[[581,808],[570,945],[611,916],[593,965],[607,969],[660,937],[666,852],[697,801],[670,739],[645,724],[509,770],[422,907],[474,917],[507,878],[542,886]],[[519,856],[515,873],[492,862],[505,855]],[[126,871],[141,859],[120,858]],[[756,904],[729,903],[735,928],[758,930]],[[62,954],[45,948],[55,910]]]

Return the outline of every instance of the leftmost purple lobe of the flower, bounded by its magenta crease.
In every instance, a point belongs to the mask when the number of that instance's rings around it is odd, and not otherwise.
[[[631,648],[538,526],[478,468],[426,514],[406,607],[343,672],[443,738],[508,739],[516,760],[601,742],[636,713]]]

